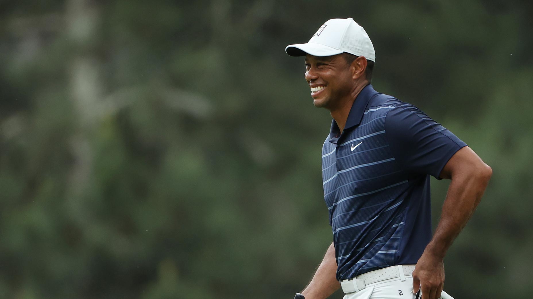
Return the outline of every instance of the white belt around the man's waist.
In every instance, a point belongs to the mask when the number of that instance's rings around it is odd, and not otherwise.
[[[406,276],[413,275],[415,265],[397,265],[391,266],[379,270],[366,272],[356,278],[345,279],[341,281],[341,287],[344,293],[359,292],[369,284],[378,283],[379,281],[391,278],[400,277],[401,280],[405,280]]]

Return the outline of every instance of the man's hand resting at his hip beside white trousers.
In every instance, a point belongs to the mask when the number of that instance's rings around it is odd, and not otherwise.
[[[424,252],[413,271],[413,293],[422,289],[422,299],[438,299],[444,287],[444,262]]]

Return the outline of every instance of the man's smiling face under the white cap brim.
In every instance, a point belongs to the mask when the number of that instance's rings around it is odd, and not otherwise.
[[[319,57],[305,55],[305,80],[311,87],[315,107],[336,108],[350,96],[353,88],[352,71],[343,54]]]

